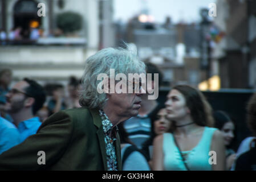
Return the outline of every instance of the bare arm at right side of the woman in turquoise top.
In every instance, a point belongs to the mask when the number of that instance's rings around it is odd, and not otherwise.
[[[211,150],[216,152],[216,164],[212,164],[213,171],[225,171],[226,155],[224,138],[221,131],[217,130],[213,134]]]

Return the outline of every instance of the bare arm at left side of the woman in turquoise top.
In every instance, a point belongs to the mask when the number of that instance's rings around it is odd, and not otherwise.
[[[153,171],[164,170],[164,154],[162,151],[163,135],[158,135],[153,141]]]

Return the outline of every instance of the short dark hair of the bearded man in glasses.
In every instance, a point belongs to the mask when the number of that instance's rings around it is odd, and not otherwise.
[[[25,89],[25,92],[29,97],[35,99],[35,102],[32,105],[32,113],[36,114],[36,112],[42,108],[44,102],[46,101],[46,93],[43,86],[39,85],[36,81],[29,78],[24,78],[23,80],[29,84],[29,86]]]

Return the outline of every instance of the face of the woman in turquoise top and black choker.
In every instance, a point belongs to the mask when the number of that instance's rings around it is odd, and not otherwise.
[[[178,90],[173,89],[169,92],[165,106],[166,118],[170,120],[176,121],[189,114],[185,97]]]

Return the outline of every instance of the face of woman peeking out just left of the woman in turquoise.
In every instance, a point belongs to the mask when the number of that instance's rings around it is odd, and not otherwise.
[[[170,129],[170,121],[166,119],[166,110],[161,109],[157,113],[157,120],[154,121],[154,126],[155,126],[155,133],[156,135],[160,135],[165,133]]]

